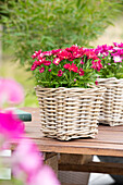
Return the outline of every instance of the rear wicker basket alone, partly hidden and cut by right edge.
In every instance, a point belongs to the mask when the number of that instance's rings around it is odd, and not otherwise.
[[[99,122],[110,126],[123,125],[123,79],[100,78],[100,87],[106,87]]]

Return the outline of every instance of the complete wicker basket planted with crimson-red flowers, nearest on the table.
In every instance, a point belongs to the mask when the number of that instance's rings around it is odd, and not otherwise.
[[[35,51],[32,58],[45,136],[61,140],[95,137],[104,89],[94,87],[96,71],[102,67],[100,59],[78,46]]]

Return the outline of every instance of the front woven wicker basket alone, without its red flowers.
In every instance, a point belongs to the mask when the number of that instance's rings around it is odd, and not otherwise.
[[[95,138],[104,88],[36,87],[45,136],[70,140]]]

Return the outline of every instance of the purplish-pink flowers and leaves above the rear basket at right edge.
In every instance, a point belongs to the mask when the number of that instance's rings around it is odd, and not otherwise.
[[[113,42],[112,46],[97,46],[94,50],[100,58],[103,67],[100,70],[100,77],[123,77],[123,44]]]

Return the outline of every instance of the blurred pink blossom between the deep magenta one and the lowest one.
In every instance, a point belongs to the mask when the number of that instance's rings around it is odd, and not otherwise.
[[[12,156],[13,174],[20,177],[26,173],[27,178],[37,174],[42,165],[42,156],[37,146],[28,138],[22,139]]]

